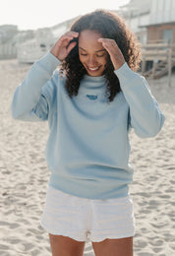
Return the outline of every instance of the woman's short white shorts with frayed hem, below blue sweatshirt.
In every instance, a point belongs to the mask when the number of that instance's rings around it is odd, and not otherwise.
[[[133,202],[130,196],[85,199],[49,186],[40,224],[51,234],[78,241],[130,237],[135,234]]]

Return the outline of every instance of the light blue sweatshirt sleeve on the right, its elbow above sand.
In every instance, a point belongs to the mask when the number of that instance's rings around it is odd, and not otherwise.
[[[164,123],[156,99],[151,95],[146,79],[132,71],[127,63],[114,71],[130,107],[130,124],[139,137],[153,137]]]

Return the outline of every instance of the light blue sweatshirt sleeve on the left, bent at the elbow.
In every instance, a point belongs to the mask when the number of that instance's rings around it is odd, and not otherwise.
[[[60,61],[50,52],[30,68],[23,83],[17,87],[11,103],[12,116],[25,121],[47,120],[53,95],[53,72]]]

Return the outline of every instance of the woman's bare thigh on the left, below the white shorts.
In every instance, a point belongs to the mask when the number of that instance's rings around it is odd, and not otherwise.
[[[83,256],[85,242],[63,235],[49,234],[52,256]]]

